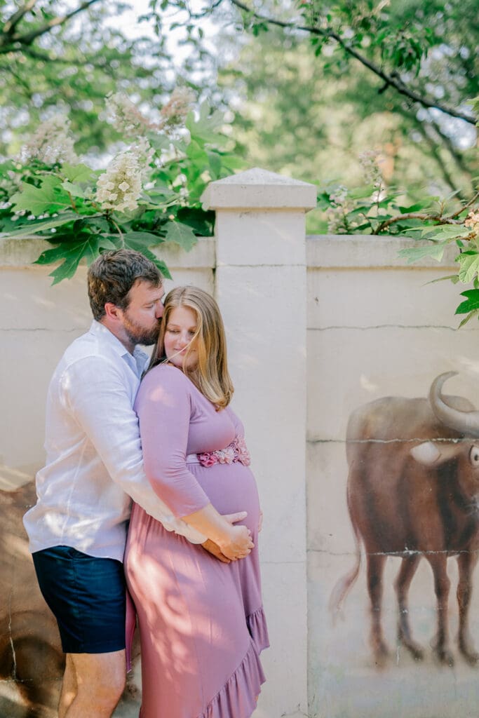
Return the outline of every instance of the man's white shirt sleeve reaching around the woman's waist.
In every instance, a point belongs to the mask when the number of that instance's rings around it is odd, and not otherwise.
[[[111,479],[168,531],[194,544],[205,536],[180,521],[155,492],[144,470],[138,418],[118,368],[99,356],[70,365],[60,381],[60,401],[78,421]]]

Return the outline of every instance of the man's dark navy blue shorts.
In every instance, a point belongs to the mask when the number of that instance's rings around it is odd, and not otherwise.
[[[65,653],[111,653],[125,648],[123,564],[70,546],[32,554],[42,595],[57,619]]]

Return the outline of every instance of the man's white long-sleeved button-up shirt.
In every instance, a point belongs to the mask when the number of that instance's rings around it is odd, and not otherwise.
[[[172,515],[144,473],[133,404],[146,362],[95,321],[65,351],[47,395],[38,500],[24,516],[30,551],[72,546],[121,561],[131,498],[168,531],[205,540]]]

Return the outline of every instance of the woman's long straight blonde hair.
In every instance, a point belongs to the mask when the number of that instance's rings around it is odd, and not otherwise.
[[[188,307],[194,312],[197,320],[195,335],[185,355],[185,375],[212,404],[224,409],[230,403],[234,391],[228,373],[225,327],[218,304],[208,292],[203,292],[203,289],[197,286],[177,286],[167,294],[164,300],[162,328],[149,369],[167,361],[164,355],[164,332],[172,310],[177,307]],[[187,360],[192,348],[197,352],[198,360],[195,368],[188,369]]]

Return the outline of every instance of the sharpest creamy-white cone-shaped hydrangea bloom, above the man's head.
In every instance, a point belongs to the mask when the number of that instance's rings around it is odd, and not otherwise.
[[[142,171],[135,151],[120,152],[96,183],[96,201],[103,210],[136,210],[142,190]]]

